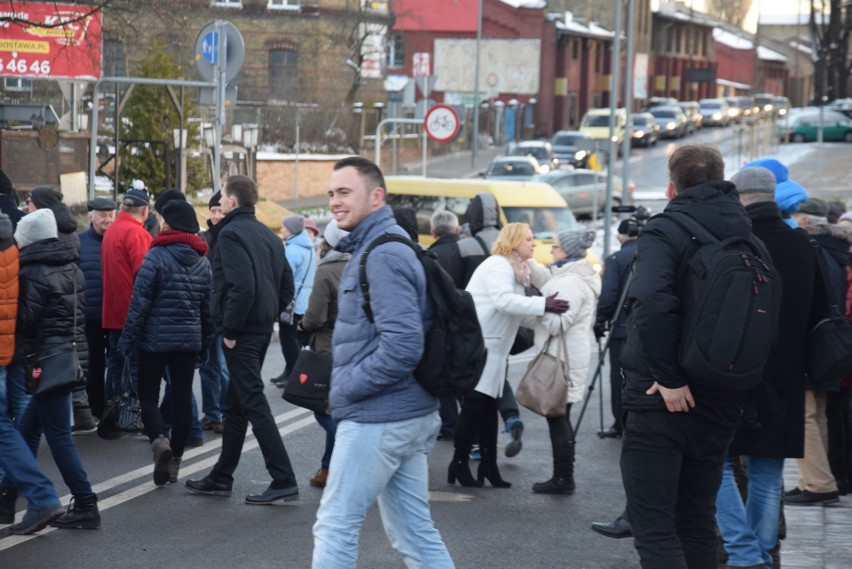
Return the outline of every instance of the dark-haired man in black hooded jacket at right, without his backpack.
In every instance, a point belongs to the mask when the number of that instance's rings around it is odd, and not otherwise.
[[[720,240],[748,237],[751,222],[724,170],[714,146],[677,148],[669,157],[665,211],[689,215]],[[652,218],[637,239],[621,356],[621,474],[645,569],[717,569],[716,491],[742,395],[699,384],[678,363],[682,283],[698,249],[666,217]]]

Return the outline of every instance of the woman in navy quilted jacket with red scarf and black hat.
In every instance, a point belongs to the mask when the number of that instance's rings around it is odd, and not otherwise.
[[[139,352],[142,423],[154,454],[154,484],[177,482],[192,424],[192,379],[203,346],[213,336],[207,243],[197,235],[193,207],[173,200],[133,285],[118,349]],[[172,432],[166,438],[157,403],[166,366],[171,373]]]

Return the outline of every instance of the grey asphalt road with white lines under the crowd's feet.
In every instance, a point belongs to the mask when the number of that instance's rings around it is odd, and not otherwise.
[[[281,365],[273,344],[264,377],[277,374]],[[523,363],[510,367],[511,381],[518,381],[524,367]],[[162,488],[151,480],[147,439],[102,441],[93,434],[80,435],[75,441],[100,497],[102,529],[48,529],[33,537],[2,537],[0,567],[309,567],[311,526],[321,490],[311,488],[307,480],[319,467],[324,432],[311,413],[283,401],[275,387],[267,387],[266,394],[296,470],[299,502],[266,507],[243,503],[246,494],[262,491],[269,483],[252,436],[246,441],[233,496],[216,498],[191,495],[184,488],[188,477],[206,473],[215,462],[220,444],[216,435],[206,433],[204,446],[185,455],[178,484]],[[196,396],[200,397],[197,381]],[[578,436],[574,496],[532,493],[534,482],[550,477],[550,442],[544,419],[525,410],[523,451],[515,458],[500,459],[504,478],[513,483],[510,489],[448,485],[452,443],[436,443],[429,456],[432,512],[457,567],[638,567],[631,540],[610,540],[589,530],[592,521],[617,515],[624,499],[618,472],[620,444],[596,436],[598,406],[595,391]],[[574,421],[577,414],[573,413]],[[501,435],[501,446],[506,442],[506,435]],[[40,462],[60,493],[67,493],[46,447]],[[358,567],[404,567],[388,544],[375,508],[361,532]]]

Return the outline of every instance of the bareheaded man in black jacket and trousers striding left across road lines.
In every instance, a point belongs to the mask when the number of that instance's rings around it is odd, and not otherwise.
[[[225,410],[222,452],[210,474],[189,480],[198,494],[230,496],[248,423],[251,423],[272,484],[247,504],[273,504],[299,499],[290,457],[263,394],[260,368],[272,336],[272,325],[295,292],[284,244],[254,214],[257,186],[246,176],[231,176],[222,188],[224,219],[213,226],[213,297],[211,310],[223,336],[231,375]]]

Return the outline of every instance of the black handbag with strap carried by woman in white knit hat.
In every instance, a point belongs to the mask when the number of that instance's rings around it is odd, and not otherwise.
[[[86,372],[77,358],[77,278],[73,269],[71,281],[74,283],[74,337],[71,344],[64,341],[52,343],[43,338],[41,352],[26,358],[27,393],[36,397],[53,397],[86,387]]]

